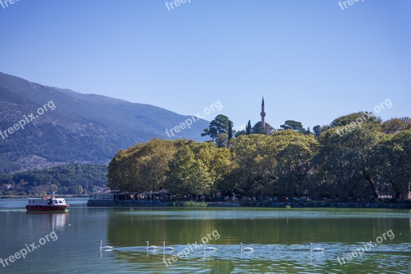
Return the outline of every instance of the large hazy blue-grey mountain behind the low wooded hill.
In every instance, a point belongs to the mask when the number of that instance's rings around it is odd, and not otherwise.
[[[2,72],[0,109],[0,173],[67,162],[107,163],[119,149],[151,138],[168,139],[165,129],[190,118]],[[202,141],[200,134],[208,125],[200,119],[172,137]]]

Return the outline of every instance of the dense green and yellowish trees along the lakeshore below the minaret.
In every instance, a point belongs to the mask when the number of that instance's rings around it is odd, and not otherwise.
[[[361,117],[367,119],[360,123]],[[236,134],[232,125],[219,115],[203,133],[210,141],[152,139],[120,150],[108,165],[107,186],[195,196],[219,191],[301,196],[309,190],[340,197],[378,197],[386,191],[399,197],[409,191],[409,117],[383,122],[359,112],[315,126],[313,133],[286,121],[271,135],[257,133],[250,122],[245,134]]]

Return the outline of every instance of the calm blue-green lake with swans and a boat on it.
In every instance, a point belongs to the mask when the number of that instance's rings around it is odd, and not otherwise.
[[[30,213],[27,199],[0,199],[1,273],[411,272],[410,210],[87,207],[86,199],[66,200],[67,213]],[[100,240],[114,248],[100,250]],[[202,240],[217,250],[203,251]],[[146,241],[161,248],[147,251]],[[163,241],[174,251],[163,252]],[[240,242],[255,250],[241,252]],[[324,251],[310,252],[310,242]],[[20,259],[7,265],[16,252]]]

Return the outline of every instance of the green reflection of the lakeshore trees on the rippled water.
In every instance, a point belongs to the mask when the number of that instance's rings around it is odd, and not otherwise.
[[[408,211],[311,212],[123,208],[107,215],[107,240],[118,246],[110,254],[113,259],[137,272],[341,272],[359,269],[361,265],[361,269],[373,272],[378,269],[371,267],[373,263],[393,264],[393,256],[398,262],[393,269],[404,269],[401,265],[410,263]],[[362,242],[375,241],[376,236],[389,229],[396,232],[395,239],[341,268],[338,256],[356,250]],[[217,250],[203,251],[201,239],[214,230],[220,238],[206,246]],[[153,245],[165,241],[175,251],[147,251],[147,240]],[[195,242],[200,247],[186,256],[177,255]],[[239,242],[255,250],[240,252]],[[310,252],[309,242],[325,248],[324,252]],[[178,257],[175,262],[164,263],[173,255]]]

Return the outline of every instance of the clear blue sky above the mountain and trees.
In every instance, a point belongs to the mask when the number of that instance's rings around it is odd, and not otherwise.
[[[4,1],[4,0],[3,0]],[[411,1],[20,0],[0,6],[0,71],[234,126],[411,116]]]

